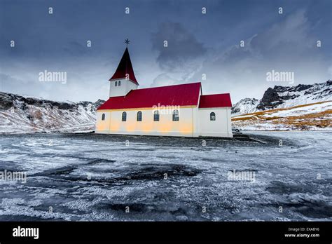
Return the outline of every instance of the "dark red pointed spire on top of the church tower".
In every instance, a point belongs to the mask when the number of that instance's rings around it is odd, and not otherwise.
[[[118,68],[109,81],[113,79],[125,79],[126,74],[129,75],[130,81],[133,81],[135,84],[139,85],[134,74],[134,69],[132,69],[132,62],[130,61],[128,48],[125,48],[125,53],[123,53]]]

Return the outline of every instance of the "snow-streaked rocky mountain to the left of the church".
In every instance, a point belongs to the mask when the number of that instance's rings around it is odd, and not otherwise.
[[[0,133],[94,130],[97,102],[56,102],[0,92]]]

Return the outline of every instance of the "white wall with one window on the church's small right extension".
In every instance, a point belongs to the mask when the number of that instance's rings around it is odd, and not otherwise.
[[[230,108],[198,109],[199,134],[207,137],[233,137],[230,123]],[[216,114],[216,120],[210,121],[210,113]]]

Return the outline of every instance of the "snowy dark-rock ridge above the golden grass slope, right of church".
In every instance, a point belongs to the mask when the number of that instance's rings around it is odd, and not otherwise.
[[[268,88],[259,102],[255,98],[244,98],[234,104],[232,116],[330,100],[332,100],[331,80],[312,85],[275,86]]]

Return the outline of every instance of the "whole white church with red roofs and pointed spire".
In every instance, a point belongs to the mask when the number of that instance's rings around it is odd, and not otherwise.
[[[109,100],[97,109],[95,133],[233,137],[230,95],[202,94],[202,83],[138,88],[128,48],[109,79]]]

